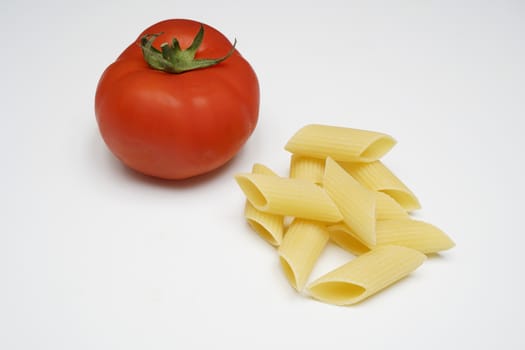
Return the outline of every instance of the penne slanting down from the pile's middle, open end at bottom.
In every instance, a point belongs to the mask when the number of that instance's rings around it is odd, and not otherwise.
[[[279,260],[290,284],[301,291],[329,240],[323,224],[295,219],[279,247]]]

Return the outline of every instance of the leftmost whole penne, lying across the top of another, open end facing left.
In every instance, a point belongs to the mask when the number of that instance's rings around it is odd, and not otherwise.
[[[235,180],[260,211],[325,222],[343,219],[330,196],[310,181],[262,174],[238,174]]]

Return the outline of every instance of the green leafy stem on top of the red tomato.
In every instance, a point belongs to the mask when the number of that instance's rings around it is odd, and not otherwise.
[[[160,50],[154,48],[153,42],[161,34],[144,35],[140,39],[140,47],[142,48],[144,59],[151,68],[167,73],[183,73],[221,63],[233,54],[237,44],[237,40],[235,40],[230,51],[223,57],[196,59],[195,54],[204,37],[204,26],[202,24],[190,47],[186,50],[180,48],[179,41],[175,38],[172,40],[171,45],[166,42],[160,45]]]

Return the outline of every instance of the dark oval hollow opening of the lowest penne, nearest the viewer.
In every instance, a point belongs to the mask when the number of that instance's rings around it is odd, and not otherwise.
[[[310,287],[315,298],[334,304],[356,302],[365,291],[365,288],[349,282],[323,282]]]

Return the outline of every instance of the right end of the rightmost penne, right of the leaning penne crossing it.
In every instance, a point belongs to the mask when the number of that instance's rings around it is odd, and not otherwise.
[[[425,254],[437,253],[455,245],[439,228],[418,220],[381,220],[376,223],[376,232],[380,245],[401,245]]]

